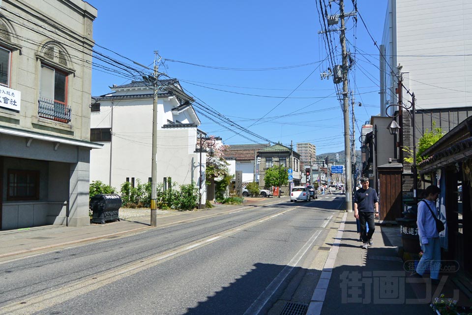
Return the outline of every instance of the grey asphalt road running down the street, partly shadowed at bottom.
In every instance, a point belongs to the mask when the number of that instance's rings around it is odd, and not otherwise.
[[[3,263],[0,314],[273,313],[343,201],[245,207]]]

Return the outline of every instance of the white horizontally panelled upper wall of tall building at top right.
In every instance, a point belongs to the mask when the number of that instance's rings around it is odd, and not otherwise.
[[[403,65],[404,84],[414,91],[416,108],[471,106],[472,56],[465,55],[472,54],[472,2],[390,0],[388,6],[391,21],[385,23],[383,35],[386,55],[398,56],[390,59],[390,65]],[[391,33],[395,28],[396,41]],[[420,57],[424,55],[446,56]],[[388,65],[386,71],[391,71]],[[388,87],[392,81],[386,83]]]

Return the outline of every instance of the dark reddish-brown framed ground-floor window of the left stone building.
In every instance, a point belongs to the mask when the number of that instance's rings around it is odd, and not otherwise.
[[[38,200],[39,171],[8,170],[7,200]]]

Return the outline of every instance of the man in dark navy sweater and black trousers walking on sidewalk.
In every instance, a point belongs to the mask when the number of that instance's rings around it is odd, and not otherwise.
[[[367,249],[374,245],[372,235],[375,231],[374,217],[379,217],[379,197],[375,189],[369,188],[369,179],[362,177],[360,179],[362,188],[354,193],[354,218],[359,219],[360,235],[362,238],[362,248]],[[369,231],[366,232],[366,223]]]

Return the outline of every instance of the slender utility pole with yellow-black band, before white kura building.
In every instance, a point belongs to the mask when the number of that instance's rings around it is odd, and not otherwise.
[[[151,226],[157,226],[157,90],[159,87],[159,62],[161,57],[154,51],[154,98],[152,101],[152,159],[151,159]],[[159,56],[159,59],[156,59]]]

